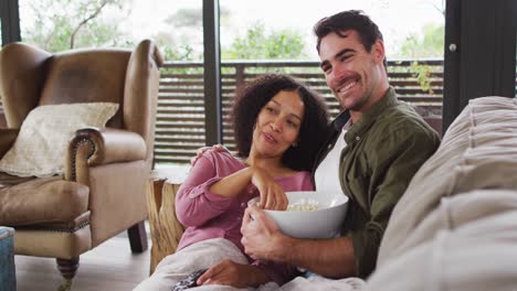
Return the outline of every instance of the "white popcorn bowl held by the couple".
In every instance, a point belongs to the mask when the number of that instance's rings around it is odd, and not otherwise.
[[[330,238],[341,230],[347,214],[348,197],[342,193],[315,191],[286,192],[289,205],[317,202],[317,211],[264,211],[282,233],[296,238]],[[260,197],[249,202],[256,204]]]

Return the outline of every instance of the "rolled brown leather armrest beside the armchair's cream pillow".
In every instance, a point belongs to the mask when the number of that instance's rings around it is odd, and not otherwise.
[[[68,143],[65,179],[77,182],[85,179],[87,168],[146,159],[146,142],[138,133],[114,128],[83,128],[75,131]]]

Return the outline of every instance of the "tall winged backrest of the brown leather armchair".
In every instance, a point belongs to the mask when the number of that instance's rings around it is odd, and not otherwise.
[[[20,128],[41,105],[108,101],[118,112],[107,127],[139,133],[152,157],[159,67],[162,57],[145,40],[134,51],[71,50],[56,54],[24,43],[0,52],[0,95],[9,128]]]

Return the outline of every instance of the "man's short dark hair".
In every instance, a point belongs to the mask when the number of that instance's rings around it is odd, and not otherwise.
[[[348,30],[357,31],[367,52],[371,51],[371,46],[377,40],[383,41],[379,28],[365,12],[361,10],[348,10],[323,18],[314,25],[314,34],[317,36],[316,50],[318,53],[323,37],[333,32],[345,37],[342,33]],[[386,57],[384,67],[387,67]]]

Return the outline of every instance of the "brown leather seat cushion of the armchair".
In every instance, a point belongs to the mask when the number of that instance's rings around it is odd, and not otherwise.
[[[0,225],[72,222],[87,212],[88,196],[86,185],[59,176],[20,179],[0,173]]]

